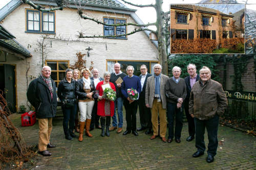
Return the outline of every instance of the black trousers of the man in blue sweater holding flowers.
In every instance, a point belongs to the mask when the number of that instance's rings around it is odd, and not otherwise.
[[[127,131],[136,131],[136,113],[138,109],[138,101],[134,101],[133,103],[129,104],[127,99],[124,99],[124,108],[126,112],[126,124],[127,124]]]

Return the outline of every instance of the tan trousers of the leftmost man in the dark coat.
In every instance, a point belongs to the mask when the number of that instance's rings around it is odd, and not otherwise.
[[[38,151],[45,151],[47,150],[47,144],[50,142],[52,118],[38,118],[38,127]]]

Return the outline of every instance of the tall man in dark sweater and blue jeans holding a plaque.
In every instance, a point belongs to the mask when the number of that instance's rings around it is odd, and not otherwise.
[[[112,117],[113,122],[110,131],[117,129],[118,126],[117,133],[120,133],[122,132],[123,128],[123,95],[121,93],[121,83],[119,80],[122,80],[126,75],[121,71],[121,65],[119,63],[115,63],[114,69],[115,72],[112,72],[110,75],[110,82],[113,83],[116,87],[115,110],[117,109],[118,125],[115,111]]]

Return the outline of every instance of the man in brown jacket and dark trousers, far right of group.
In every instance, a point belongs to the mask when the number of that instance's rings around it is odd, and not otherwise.
[[[217,132],[219,116],[224,113],[227,106],[227,98],[222,85],[210,79],[211,72],[206,66],[199,71],[200,79],[196,82],[190,93],[189,113],[195,117],[196,148],[193,157],[197,158],[204,154],[204,132],[208,133],[208,163],[214,161],[218,148]]]

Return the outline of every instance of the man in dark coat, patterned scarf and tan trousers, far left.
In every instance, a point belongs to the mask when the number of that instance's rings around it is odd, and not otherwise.
[[[38,153],[43,156],[51,156],[47,148],[55,148],[50,143],[52,131],[52,117],[56,115],[57,94],[55,82],[51,79],[51,68],[42,67],[41,75],[29,84],[27,98],[36,109],[38,118],[39,139]]]

